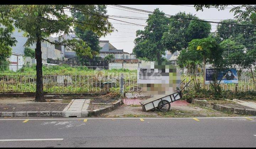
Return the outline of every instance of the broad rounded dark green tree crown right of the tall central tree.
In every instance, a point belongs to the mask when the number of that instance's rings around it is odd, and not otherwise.
[[[191,13],[179,12],[175,16],[178,18],[170,18],[169,29],[162,37],[162,44],[165,45],[167,50],[174,53],[177,50],[186,49],[188,42],[192,39],[208,37],[211,29],[210,23],[189,20],[198,19]]]

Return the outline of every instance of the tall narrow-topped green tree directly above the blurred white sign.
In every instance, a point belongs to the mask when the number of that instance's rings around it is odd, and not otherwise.
[[[162,55],[165,54],[166,49],[161,40],[169,23],[164,15],[164,12],[156,8],[154,14],[149,14],[144,31],[136,31],[137,38],[134,40],[133,53],[137,57],[146,57],[150,61],[162,61]]]

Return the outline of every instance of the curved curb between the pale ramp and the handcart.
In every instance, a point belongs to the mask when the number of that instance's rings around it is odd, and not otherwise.
[[[102,107],[96,110],[90,110],[88,111],[88,116],[98,116],[98,115],[110,112],[114,109],[117,109],[117,107],[120,105],[122,105],[122,99],[119,99],[118,101],[114,102],[112,105]]]

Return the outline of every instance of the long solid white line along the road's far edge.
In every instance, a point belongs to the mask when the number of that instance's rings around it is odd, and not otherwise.
[[[115,117],[114,119],[191,119],[191,118],[205,118],[205,119],[212,119],[212,118],[245,118],[245,117],[126,117],[126,118],[117,118]],[[256,118],[254,117],[249,117],[249,118]],[[81,118],[40,118],[40,119],[0,119],[3,121],[6,120],[79,120]],[[112,119],[112,118],[87,118],[87,120],[102,120],[102,119]]]

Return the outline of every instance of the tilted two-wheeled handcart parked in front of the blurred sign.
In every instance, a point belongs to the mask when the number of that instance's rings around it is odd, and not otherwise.
[[[190,81],[188,83],[190,83]],[[170,95],[156,95],[152,98],[141,101],[140,104],[142,105],[143,111],[147,112],[155,109],[159,109],[162,112],[169,111],[171,107],[170,103],[182,98],[181,91],[188,85],[188,83],[186,83],[181,90],[175,90],[177,92]]]

